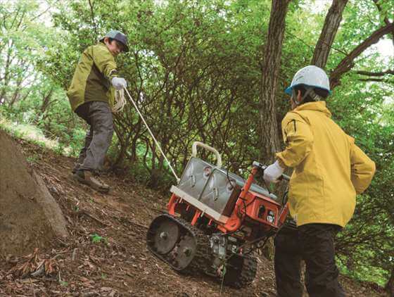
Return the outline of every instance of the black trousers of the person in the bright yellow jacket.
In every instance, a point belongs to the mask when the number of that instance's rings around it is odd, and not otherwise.
[[[283,227],[274,240],[275,277],[279,297],[302,297],[301,260],[305,261],[305,286],[310,297],[346,296],[338,282],[333,239],[338,225],[307,224]]]

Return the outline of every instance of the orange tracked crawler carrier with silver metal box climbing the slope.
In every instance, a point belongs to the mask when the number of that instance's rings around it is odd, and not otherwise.
[[[197,146],[215,153],[217,164],[197,158]],[[279,199],[253,184],[264,169],[253,163],[244,181],[222,168],[215,148],[195,142],[179,183],[170,190],[168,213],[148,228],[148,249],[179,272],[204,272],[237,288],[253,282],[253,250],[277,232],[288,213],[285,196]]]

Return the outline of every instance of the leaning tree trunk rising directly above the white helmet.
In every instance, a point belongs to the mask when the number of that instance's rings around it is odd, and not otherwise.
[[[320,68],[326,67],[333,39],[335,39],[336,32],[342,20],[343,9],[347,3],[348,0],[333,0],[329,12],[326,15],[326,19],[324,20],[324,26],[320,33],[319,40],[314,48],[311,61],[312,65],[317,65]]]

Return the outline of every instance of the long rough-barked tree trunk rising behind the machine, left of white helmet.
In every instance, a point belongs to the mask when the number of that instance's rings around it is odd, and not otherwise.
[[[265,163],[272,161],[274,153],[281,148],[278,137],[275,96],[279,82],[286,13],[290,1],[272,0],[269,17],[267,44],[262,63],[262,82],[260,84],[261,159]]]

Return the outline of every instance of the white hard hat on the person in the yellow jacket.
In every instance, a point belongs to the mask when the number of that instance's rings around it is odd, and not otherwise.
[[[291,95],[293,88],[299,86],[300,84],[306,87],[325,89],[329,91],[329,94],[331,94],[329,77],[322,68],[314,65],[301,68],[297,71],[297,73],[295,73],[290,87],[285,90],[286,94]]]

